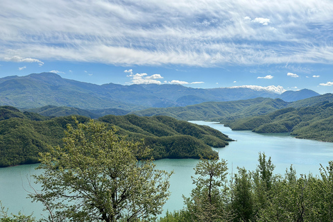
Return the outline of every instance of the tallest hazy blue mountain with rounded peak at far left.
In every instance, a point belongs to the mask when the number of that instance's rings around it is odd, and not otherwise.
[[[101,92],[102,91],[102,92]],[[42,73],[0,79],[0,105],[40,108],[45,105],[76,108],[120,108],[140,110],[144,106],[127,104],[103,95],[101,86]]]

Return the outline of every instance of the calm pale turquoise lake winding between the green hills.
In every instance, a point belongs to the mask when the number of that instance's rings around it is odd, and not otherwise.
[[[238,167],[246,167],[248,170],[255,170],[257,166],[258,153],[264,152],[270,156],[275,164],[275,173],[284,174],[285,170],[293,164],[298,176],[300,173],[319,173],[320,164],[327,166],[327,162],[333,160],[333,144],[317,142],[308,139],[296,139],[288,133],[258,134],[250,131],[232,131],[221,124],[204,121],[191,121],[201,125],[207,125],[220,130],[230,138],[237,141],[230,142],[225,148],[214,148],[219,152],[219,157],[228,161],[229,172],[237,172]],[[165,210],[179,210],[183,207],[182,195],[189,196],[194,188],[191,176],[194,176],[194,167],[198,160],[157,160],[157,169],[175,171],[171,176],[171,197],[164,205]],[[0,169],[0,200],[4,207],[9,208],[8,212],[17,214],[21,211],[24,214],[31,214],[40,218],[42,205],[31,203],[27,199],[29,187],[28,178],[35,173],[33,165],[7,167]],[[37,188],[37,185],[32,184]],[[45,214],[47,215],[47,214]]]

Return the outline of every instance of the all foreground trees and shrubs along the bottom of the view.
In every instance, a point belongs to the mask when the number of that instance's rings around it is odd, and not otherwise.
[[[320,176],[300,175],[291,166],[273,173],[271,157],[259,153],[255,171],[237,168],[227,179],[225,160],[202,159],[192,178],[196,187],[185,207],[157,219],[169,196],[171,173],[158,171],[142,144],[128,142],[103,123],[69,126],[65,146],[41,154],[42,191],[31,194],[49,212],[40,221],[332,221],[333,162]],[[142,161],[137,161],[137,156]],[[229,177],[230,178],[230,177]],[[1,222],[34,222],[32,215]]]

